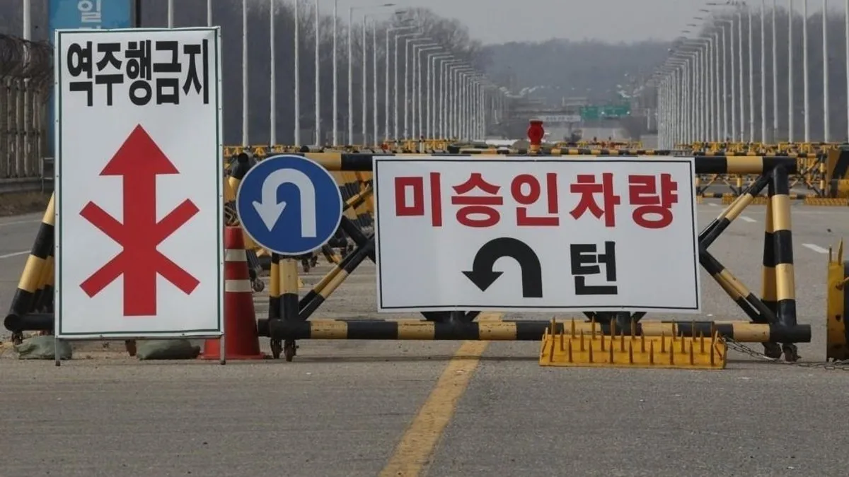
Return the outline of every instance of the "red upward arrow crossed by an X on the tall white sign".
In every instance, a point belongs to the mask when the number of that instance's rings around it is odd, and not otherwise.
[[[198,207],[186,199],[156,222],[156,176],[179,173],[148,132],[138,125],[100,172],[101,176],[123,177],[124,223],[93,202],[80,211],[84,219],[124,249],[80,286],[93,297],[124,275],[125,317],[156,315],[157,274],[186,295],[200,283],[156,250],[163,240],[198,213]]]

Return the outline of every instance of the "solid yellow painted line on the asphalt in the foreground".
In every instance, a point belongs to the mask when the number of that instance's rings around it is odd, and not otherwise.
[[[497,321],[502,316],[503,313],[481,313],[478,321]],[[380,477],[416,477],[421,473],[451,422],[487,345],[487,341],[464,341],[460,345],[396,446],[389,463],[380,471]]]

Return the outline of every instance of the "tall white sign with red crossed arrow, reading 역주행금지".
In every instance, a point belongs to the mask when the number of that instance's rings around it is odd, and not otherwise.
[[[221,31],[54,40],[56,334],[220,336]]]

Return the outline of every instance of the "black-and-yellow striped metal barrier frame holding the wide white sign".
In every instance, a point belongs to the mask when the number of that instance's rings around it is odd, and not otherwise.
[[[304,154],[328,171],[372,171],[373,154]],[[502,156],[503,157],[503,156]],[[764,344],[768,356],[796,361],[796,343],[811,340],[811,327],[796,323],[796,295],[793,281],[790,202],[788,175],[797,171],[796,160],[789,157],[698,157],[697,174],[727,174],[738,171],[759,177],[745,194],[723,210],[699,236],[699,261],[722,289],[749,317],[749,322],[667,322],[640,323],[644,313],[588,312],[590,323],[610,333],[611,328],[631,330],[639,335],[711,336],[740,342]],[[767,188],[770,204],[764,246],[763,270],[767,277],[762,297],[751,293],[708,251],[708,247],[739,216],[754,196]],[[360,197],[371,193],[361,191]],[[350,205],[347,205],[350,208]],[[272,255],[270,308],[268,317],[258,320],[261,336],[271,338],[273,356],[287,360],[295,356],[295,340],[540,340],[548,323],[515,320],[475,322],[478,311],[423,311],[424,321],[316,320],[309,318],[364,260],[375,260],[374,233],[364,233],[349,216],[343,216],[340,228],[356,244],[306,295],[299,299],[298,267],[295,257]],[[563,323],[555,326],[562,333]],[[588,323],[579,323],[585,328]],[[594,326],[594,325],[592,325]],[[559,327],[559,328],[557,328]],[[688,331],[689,330],[689,331]],[[551,331],[549,331],[550,333]],[[779,345],[779,343],[783,345]]]

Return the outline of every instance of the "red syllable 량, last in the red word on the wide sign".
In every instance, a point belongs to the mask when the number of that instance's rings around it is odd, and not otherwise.
[[[678,183],[670,174],[661,174],[660,181],[657,176],[633,174],[628,176],[628,198],[631,205],[637,205],[633,219],[638,226],[668,227],[672,223],[672,204],[678,203]]]

